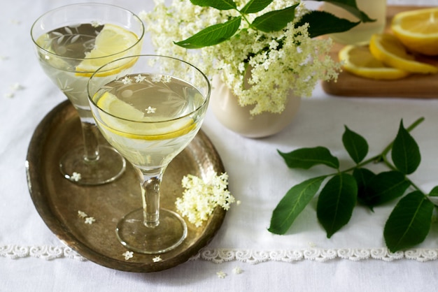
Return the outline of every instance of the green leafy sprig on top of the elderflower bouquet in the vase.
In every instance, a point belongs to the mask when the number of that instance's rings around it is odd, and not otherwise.
[[[248,15],[260,13],[273,1],[274,0],[250,0],[245,6],[243,6],[243,8],[239,9],[233,0],[190,0],[192,4],[197,6],[211,7],[218,10],[235,10],[239,16],[229,17],[229,20],[226,22],[213,24],[183,41],[174,43],[187,49],[198,49],[217,45],[218,43],[229,40],[229,38],[238,33],[242,20],[245,21],[251,29],[256,29],[266,33],[281,31],[282,29],[285,29],[289,22],[295,20],[295,8],[297,8],[299,3],[295,3],[294,5],[281,10],[273,10],[264,13],[255,17],[253,22],[248,20]],[[355,0],[326,0],[325,2],[333,3],[334,5],[348,10],[348,12],[357,17],[359,21],[351,22],[325,11],[309,11],[309,13],[304,14],[297,21],[295,26],[300,27],[308,23],[308,32],[311,38],[324,34],[348,31],[360,22],[374,21],[358,8]]]

